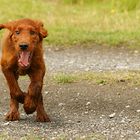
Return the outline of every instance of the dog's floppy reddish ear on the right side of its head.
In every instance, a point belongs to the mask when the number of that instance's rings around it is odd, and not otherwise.
[[[43,23],[42,23],[41,21],[36,21],[36,24],[37,24],[37,26],[38,26],[38,28],[39,28],[39,33],[40,33],[41,38],[47,37],[47,36],[48,36],[48,32],[47,32],[47,30],[43,27],[43,26],[44,26]]]

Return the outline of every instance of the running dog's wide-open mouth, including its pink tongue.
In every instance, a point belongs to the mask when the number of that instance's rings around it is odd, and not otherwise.
[[[29,51],[20,51],[18,54],[18,64],[22,68],[28,68],[30,66],[32,53]]]

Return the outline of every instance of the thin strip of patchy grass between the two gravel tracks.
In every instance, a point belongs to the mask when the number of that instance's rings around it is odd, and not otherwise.
[[[51,78],[55,83],[58,84],[87,81],[97,85],[116,83],[140,85],[139,71],[81,72],[76,74],[57,73],[51,76]]]

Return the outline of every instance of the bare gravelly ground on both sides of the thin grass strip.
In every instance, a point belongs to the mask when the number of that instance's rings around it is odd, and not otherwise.
[[[108,64],[108,61],[111,60],[111,64],[114,62],[125,66],[121,67],[121,69],[127,68],[129,70],[129,66],[132,64],[135,66],[134,70],[140,69],[138,61],[134,62],[134,60],[139,60],[140,58],[137,50],[126,52],[124,49],[118,49],[118,51],[109,49],[105,50],[104,53],[100,48],[87,49],[86,53],[83,53],[83,49],[75,50],[46,50],[45,59],[48,65],[48,73],[117,70],[115,65],[115,67],[105,65],[101,61],[102,57],[103,61]],[[98,57],[94,56],[95,52],[98,52]],[[121,54],[119,58],[118,54]],[[88,56],[91,56],[91,58]],[[93,60],[93,57],[97,59]],[[125,60],[122,60],[122,58]],[[126,59],[127,63],[123,65]],[[69,63],[70,60],[75,61]],[[91,61],[89,62],[88,60]],[[55,63],[56,61],[57,63]],[[102,64],[100,69],[95,68],[94,61],[99,65]],[[82,63],[81,65],[79,64],[80,62]],[[87,69],[86,65],[90,66],[90,64],[91,67]],[[44,104],[52,122],[35,122],[36,114],[27,116],[23,111],[22,105],[20,106],[21,120],[6,122],[4,121],[4,115],[9,108],[9,91],[1,73],[0,81],[0,139],[140,139],[140,86],[128,86],[125,82],[95,85],[86,81],[56,84],[45,77],[43,88]],[[22,77],[19,83],[22,89],[27,89],[29,80]]]

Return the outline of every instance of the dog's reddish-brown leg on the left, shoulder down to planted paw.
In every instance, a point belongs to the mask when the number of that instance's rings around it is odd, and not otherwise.
[[[16,77],[14,73],[8,69],[4,69],[2,67],[2,71],[4,73],[4,76],[7,80],[9,89],[10,89],[10,111],[6,115],[6,120],[8,121],[15,121],[19,120],[19,102],[23,103],[24,102],[24,95],[22,94]]]

